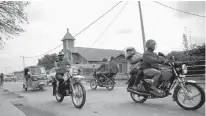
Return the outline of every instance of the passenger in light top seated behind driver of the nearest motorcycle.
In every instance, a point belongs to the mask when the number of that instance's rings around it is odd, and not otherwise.
[[[128,47],[125,50],[125,56],[130,66],[129,72],[131,75],[128,88],[138,91],[140,90],[138,84],[140,83],[141,77],[143,77],[141,75],[142,55],[138,54],[134,47]]]

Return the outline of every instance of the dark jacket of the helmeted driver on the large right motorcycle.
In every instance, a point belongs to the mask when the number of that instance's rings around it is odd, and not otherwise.
[[[159,64],[162,64],[164,60],[160,58],[156,53],[152,50],[148,49],[143,54],[143,69],[147,68],[155,68],[159,69]]]

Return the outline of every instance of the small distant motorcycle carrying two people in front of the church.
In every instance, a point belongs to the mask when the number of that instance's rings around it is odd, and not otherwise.
[[[92,90],[95,90],[97,89],[97,86],[99,87],[106,87],[107,90],[113,90],[114,89],[114,85],[115,85],[115,81],[110,78],[112,77],[111,74],[102,74],[102,73],[99,73],[100,75],[100,78],[97,77],[97,72],[94,71],[94,74],[93,74],[93,78],[92,80],[90,81],[90,87]]]

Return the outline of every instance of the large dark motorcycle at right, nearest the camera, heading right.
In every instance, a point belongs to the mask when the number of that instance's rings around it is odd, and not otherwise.
[[[164,54],[158,53],[159,56],[164,57]],[[160,69],[162,75],[159,80],[157,88],[161,90],[161,95],[156,96],[152,93],[150,88],[153,77],[144,75],[140,82],[141,90],[135,91],[128,89],[133,101],[137,103],[144,103],[147,99],[164,98],[171,95],[170,91],[174,88],[173,101],[185,110],[197,110],[205,103],[204,90],[192,80],[184,80],[184,74],[187,73],[187,66],[183,63],[175,63],[168,61],[164,67]],[[197,93],[195,93],[195,91]],[[195,94],[195,95],[194,95]],[[195,103],[195,98],[199,98]]]

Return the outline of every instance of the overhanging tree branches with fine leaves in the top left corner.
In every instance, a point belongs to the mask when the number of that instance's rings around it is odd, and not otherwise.
[[[26,1],[0,1],[0,49],[3,49],[5,40],[24,31],[21,24],[28,23],[25,13],[28,4]]]

